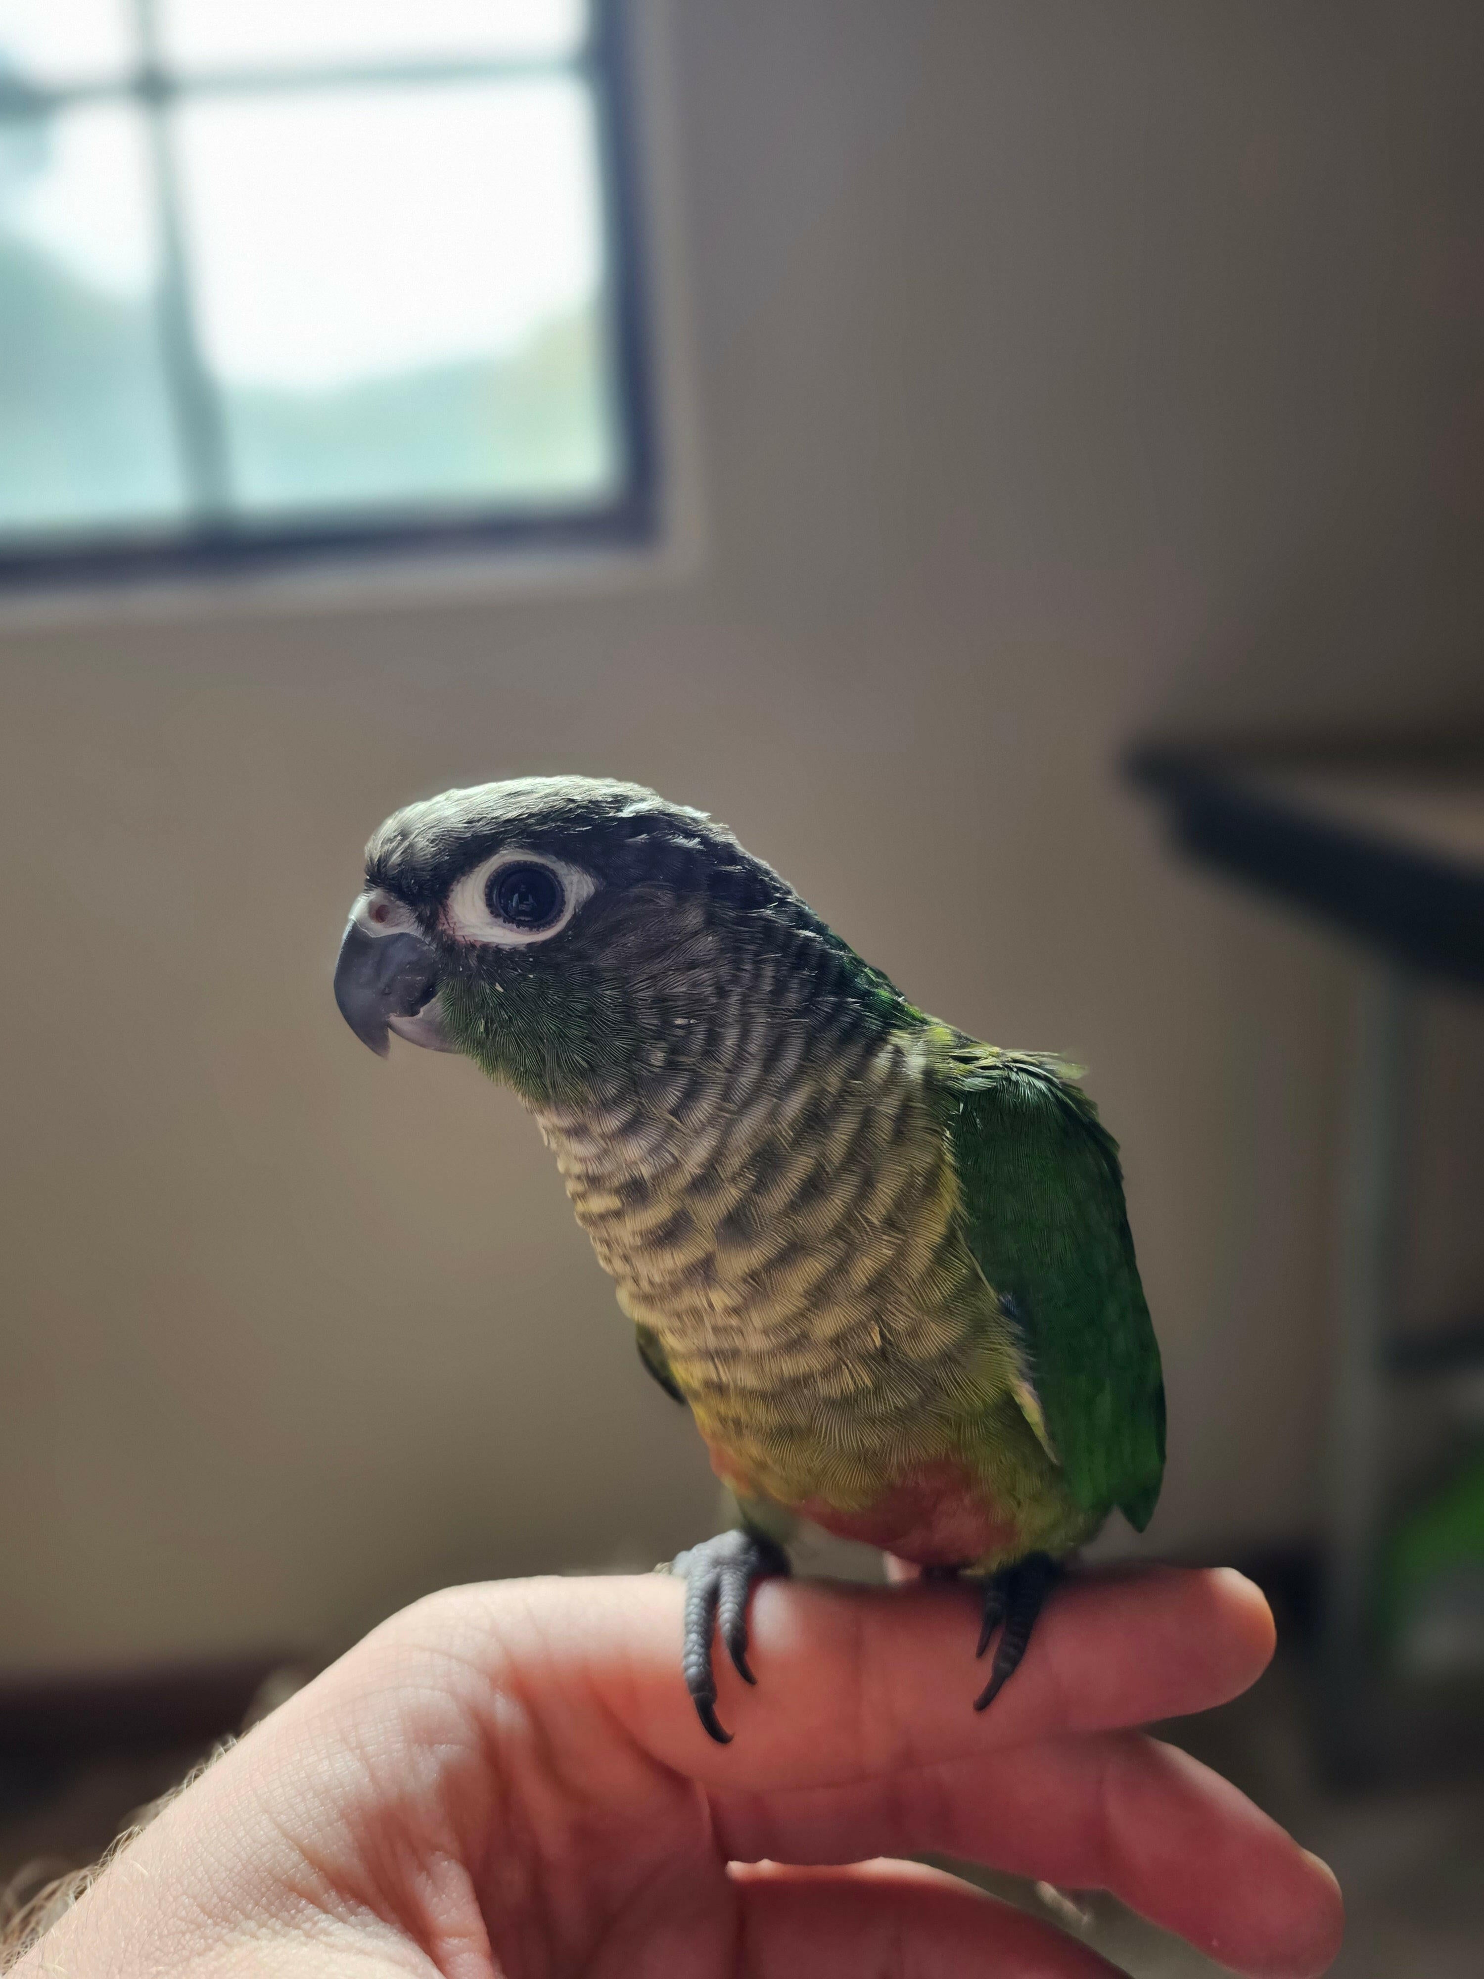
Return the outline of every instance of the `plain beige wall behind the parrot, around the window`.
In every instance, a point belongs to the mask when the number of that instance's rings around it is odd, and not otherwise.
[[[1167,1360],[1152,1540],[1314,1520],[1344,968],[1114,758],[1478,705],[1456,639],[1355,635],[1478,522],[1478,10],[671,34],[689,574],[0,627],[10,1668],[708,1526],[530,1124],[328,993],[366,831],[520,770],[706,805],[914,999],[1088,1063]]]

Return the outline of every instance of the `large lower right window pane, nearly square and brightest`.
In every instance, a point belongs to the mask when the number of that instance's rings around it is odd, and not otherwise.
[[[178,137],[241,507],[611,493],[576,79],[208,97]]]

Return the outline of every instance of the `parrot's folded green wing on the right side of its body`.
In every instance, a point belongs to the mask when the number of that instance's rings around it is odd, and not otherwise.
[[[1142,1532],[1165,1395],[1118,1144],[1065,1065],[983,1045],[952,1055],[948,1132],[970,1249],[1021,1328],[1067,1484]]]

